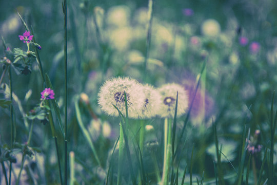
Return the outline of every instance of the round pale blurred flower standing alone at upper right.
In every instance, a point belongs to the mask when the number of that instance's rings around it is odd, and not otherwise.
[[[208,19],[202,24],[201,31],[206,36],[217,36],[221,31],[220,24],[213,19]]]

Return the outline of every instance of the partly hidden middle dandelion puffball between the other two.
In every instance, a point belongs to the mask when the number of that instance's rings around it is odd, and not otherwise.
[[[143,91],[145,94],[144,106],[142,108],[140,118],[151,118],[156,116],[159,106],[162,103],[162,96],[153,87],[148,84],[143,86]]]

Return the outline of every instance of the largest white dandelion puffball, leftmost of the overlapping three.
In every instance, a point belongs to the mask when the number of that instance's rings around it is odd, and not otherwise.
[[[118,116],[115,105],[126,116],[124,92],[128,116],[137,118],[145,104],[145,94],[143,85],[134,79],[118,77],[107,80],[98,93],[98,104],[108,115]]]

